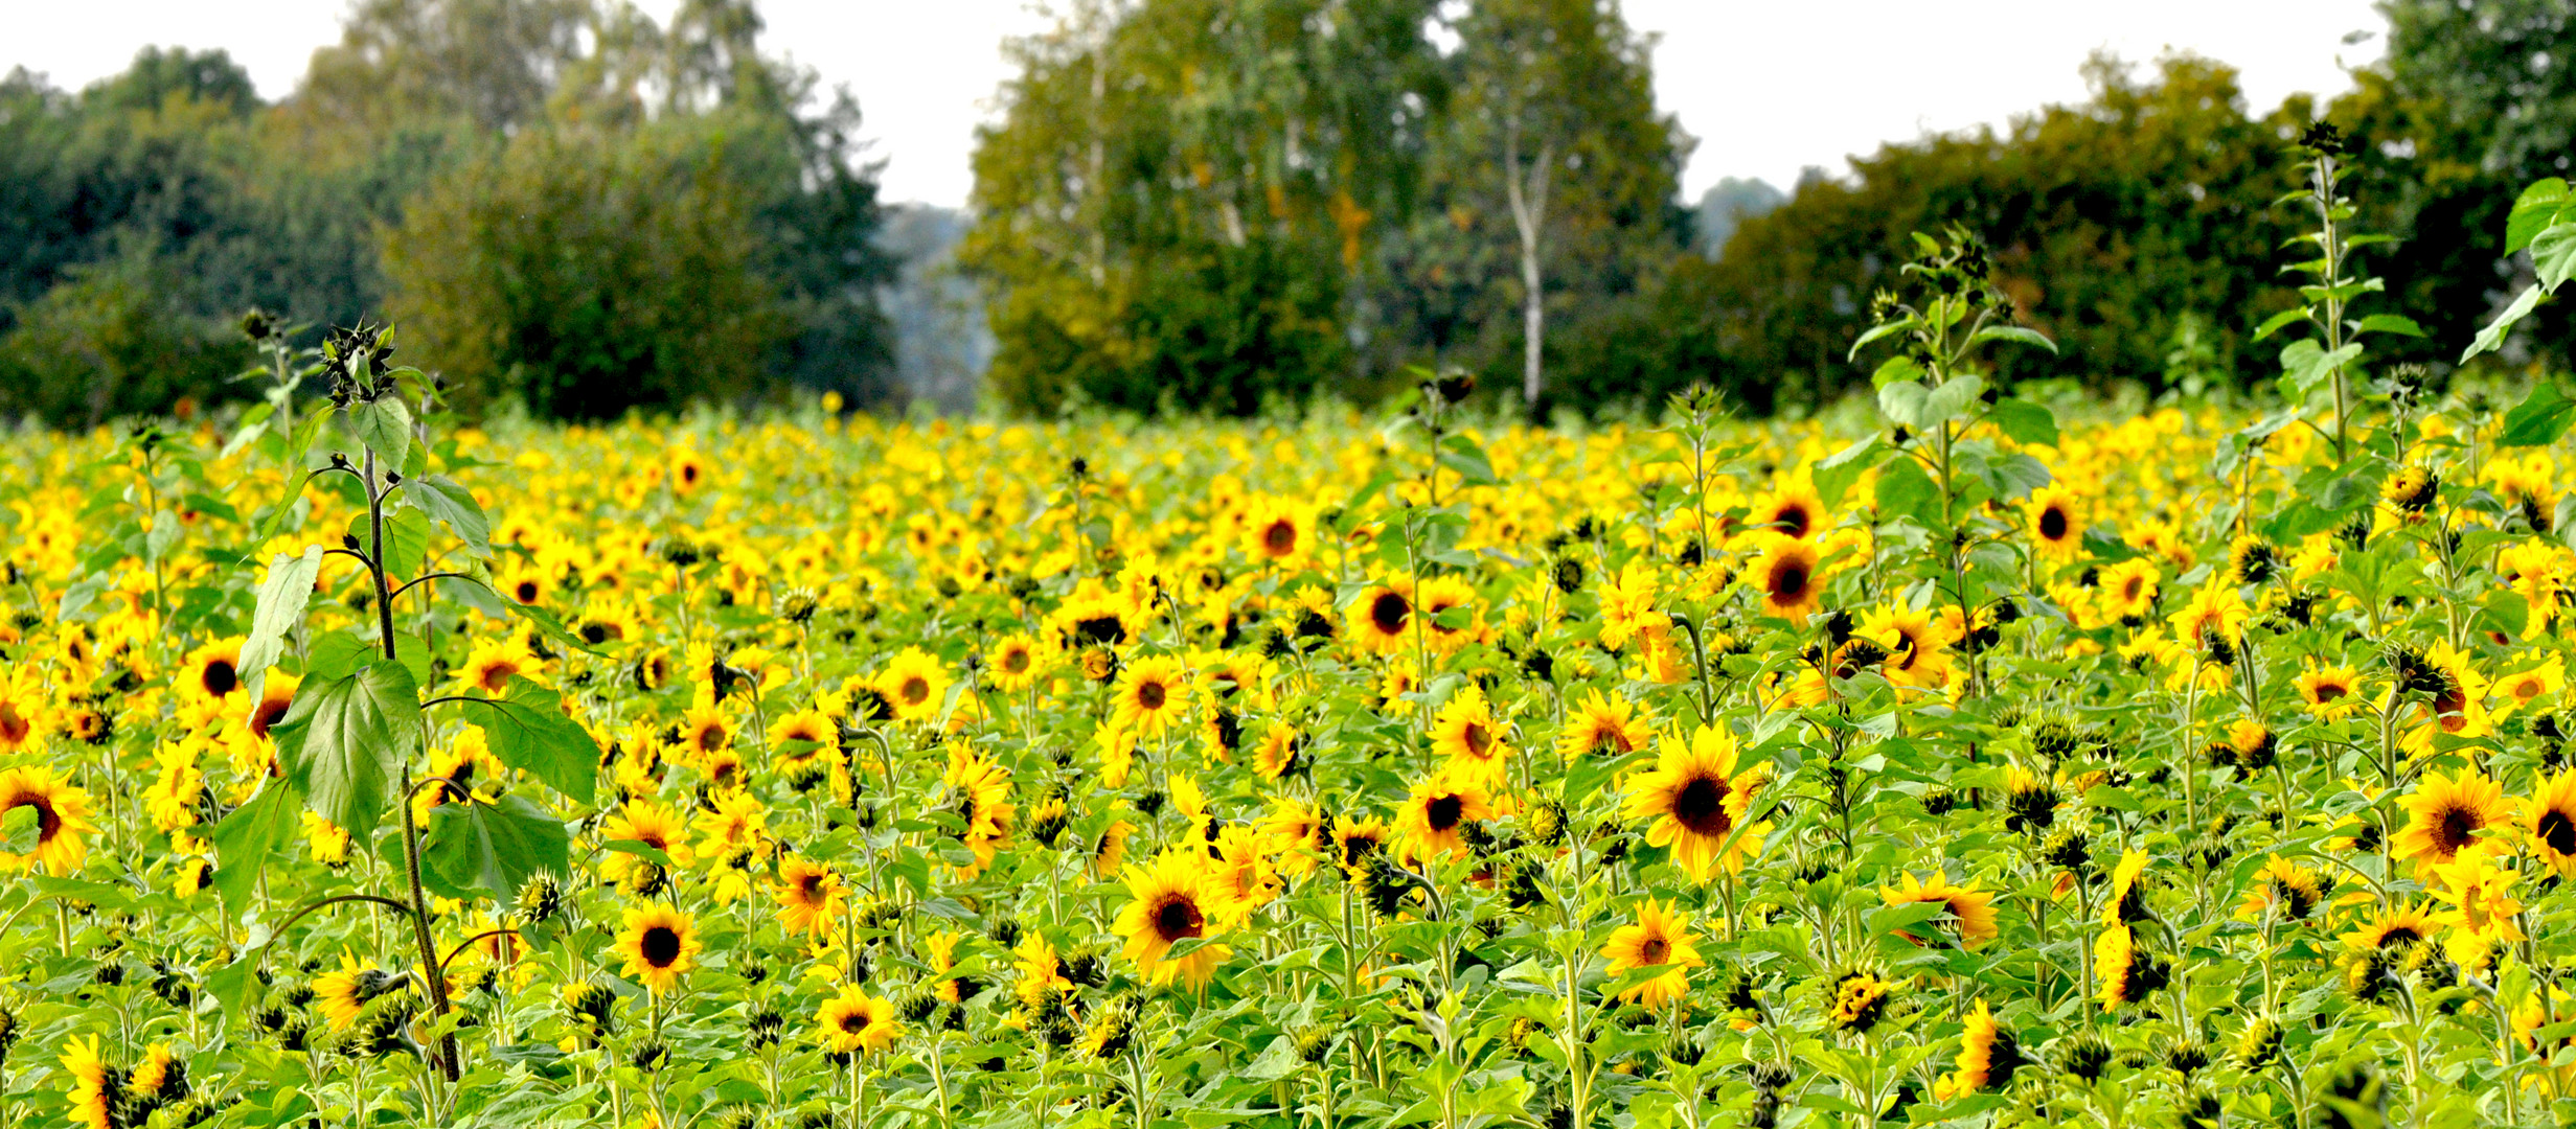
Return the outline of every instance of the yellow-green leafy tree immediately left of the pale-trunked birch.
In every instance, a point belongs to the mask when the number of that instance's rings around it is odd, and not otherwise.
[[[1412,209],[1437,54],[1430,0],[1077,5],[1010,44],[976,139],[989,384],[1244,412],[1350,389],[1373,247]]]

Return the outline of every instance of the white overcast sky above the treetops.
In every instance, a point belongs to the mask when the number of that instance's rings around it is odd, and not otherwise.
[[[672,0],[641,0],[667,15]],[[147,44],[229,49],[260,95],[286,95],[348,0],[0,0],[0,67],[54,85],[113,75]],[[768,49],[848,82],[886,160],[889,201],[963,204],[974,126],[1010,75],[1002,36],[1041,18],[1025,0],[765,0]],[[2370,0],[1625,0],[1659,36],[1656,101],[1700,139],[1690,198],[1721,175],[1788,186],[1806,165],[1922,131],[2002,124],[2079,101],[2084,54],[2200,52],[2244,70],[2254,108],[2349,85],[2380,57]],[[2360,44],[2347,34],[2370,31]]]

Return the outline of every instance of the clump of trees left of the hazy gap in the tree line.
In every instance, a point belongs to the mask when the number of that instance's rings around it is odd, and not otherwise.
[[[889,397],[858,108],[750,0],[363,0],[289,98],[147,49],[0,80],[0,412],[232,394],[245,309],[392,317],[459,407]]]

